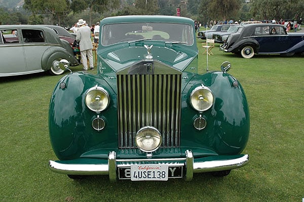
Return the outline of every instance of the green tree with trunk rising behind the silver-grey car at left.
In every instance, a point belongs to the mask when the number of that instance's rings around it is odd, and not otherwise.
[[[51,16],[51,24],[54,24],[55,19],[58,24],[62,17],[65,17],[69,12],[69,0],[24,0],[24,9],[35,14],[47,14]]]

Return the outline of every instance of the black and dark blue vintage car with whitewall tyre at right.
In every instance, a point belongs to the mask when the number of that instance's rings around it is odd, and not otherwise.
[[[286,56],[304,52],[304,34],[286,33],[279,24],[247,24],[230,34],[222,50],[252,58],[254,54],[283,54]]]

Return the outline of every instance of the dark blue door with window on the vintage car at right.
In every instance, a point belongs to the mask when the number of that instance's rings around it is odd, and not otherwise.
[[[273,32],[275,29],[275,32]],[[255,39],[259,43],[259,53],[280,53],[290,47],[288,35],[280,26],[260,26],[255,28]]]

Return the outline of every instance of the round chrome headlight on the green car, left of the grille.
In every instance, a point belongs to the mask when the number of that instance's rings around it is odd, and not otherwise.
[[[85,102],[89,109],[95,112],[103,111],[109,105],[110,97],[102,87],[90,88],[86,94]]]

